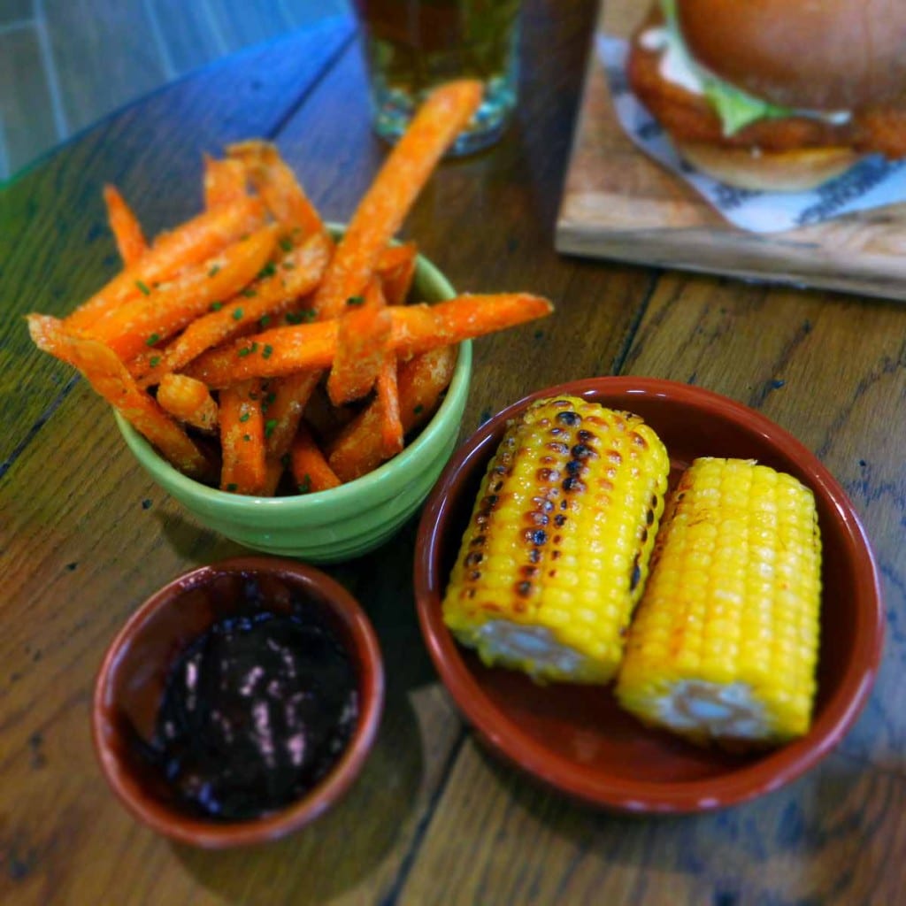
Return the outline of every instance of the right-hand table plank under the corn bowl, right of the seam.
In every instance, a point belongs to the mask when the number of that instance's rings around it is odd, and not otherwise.
[[[423,901],[439,876],[451,877],[456,892],[440,902],[472,901],[476,891],[498,902],[881,906],[897,898],[901,873],[881,866],[906,839],[898,679],[906,561],[894,527],[906,512],[897,452],[906,436],[901,321],[897,304],[665,275],[623,368],[761,410],[813,449],[852,496],[881,564],[889,632],[875,692],[838,754],[726,813],[640,821],[546,794],[470,743],[401,901]]]

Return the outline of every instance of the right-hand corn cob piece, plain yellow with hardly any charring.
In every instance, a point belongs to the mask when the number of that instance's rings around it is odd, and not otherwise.
[[[812,492],[751,460],[696,459],[668,498],[617,698],[699,742],[801,736],[820,593]]]

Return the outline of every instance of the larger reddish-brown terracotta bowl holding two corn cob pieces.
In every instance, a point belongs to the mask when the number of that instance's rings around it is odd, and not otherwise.
[[[488,669],[445,627],[441,599],[487,461],[506,421],[531,400],[568,392],[641,415],[664,441],[671,478],[698,456],[756,458],[814,491],[824,543],[821,650],[808,735],[762,754],[699,748],[645,728],[611,689],[535,685]],[[827,469],[754,410],[670,381],[598,378],[538,390],[487,421],[448,463],[419,525],[419,621],[453,699],[497,755],[585,803],[623,812],[696,812],[733,805],[800,776],[834,747],[863,708],[882,651],[878,571],[853,506]]]

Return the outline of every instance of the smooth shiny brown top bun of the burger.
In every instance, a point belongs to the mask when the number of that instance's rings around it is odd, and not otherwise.
[[[849,111],[906,98],[906,0],[677,0],[697,62],[780,106]]]

